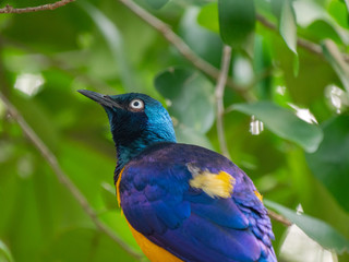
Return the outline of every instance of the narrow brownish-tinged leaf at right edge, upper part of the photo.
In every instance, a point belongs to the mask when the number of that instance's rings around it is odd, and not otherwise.
[[[325,58],[336,71],[342,85],[349,93],[349,66],[344,60],[341,52],[333,40],[325,40],[322,45]]]

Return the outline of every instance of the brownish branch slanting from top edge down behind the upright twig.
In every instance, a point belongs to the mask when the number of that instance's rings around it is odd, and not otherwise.
[[[161,20],[157,19],[132,0],[119,0],[125,7],[128,7],[133,13],[139,15],[143,21],[153,26],[156,31],[158,31],[169,43],[171,43],[178,51],[190,61],[195,68],[207,74],[208,76],[218,80],[219,70],[206,62],[204,59],[198,57],[183,40],[179,37],[171,27],[164,23]],[[244,86],[240,86],[236,84],[232,79],[227,78],[227,86],[233,88],[237,93],[239,93],[245,100],[251,100],[251,94],[249,91],[244,88]]]

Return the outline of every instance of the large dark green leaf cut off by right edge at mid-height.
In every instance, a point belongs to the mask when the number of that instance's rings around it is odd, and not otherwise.
[[[349,212],[349,117],[336,117],[322,128],[324,140],[315,153],[306,154],[306,162],[316,178]]]

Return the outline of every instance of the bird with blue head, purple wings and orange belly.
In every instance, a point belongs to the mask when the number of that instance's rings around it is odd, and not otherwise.
[[[237,165],[178,143],[168,111],[145,94],[79,92],[108,115],[117,201],[149,261],[277,261],[262,195]]]

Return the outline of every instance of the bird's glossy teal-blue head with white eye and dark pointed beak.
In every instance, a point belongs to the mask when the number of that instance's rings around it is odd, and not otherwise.
[[[104,107],[112,139],[124,153],[135,154],[156,142],[176,142],[171,118],[154,98],[139,93],[109,96],[86,90],[79,92]]]

